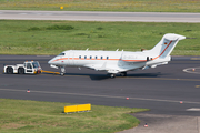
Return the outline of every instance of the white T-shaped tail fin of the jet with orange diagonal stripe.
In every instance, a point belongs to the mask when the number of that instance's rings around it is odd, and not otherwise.
[[[154,45],[151,50],[146,51],[150,54],[151,60],[166,59],[170,55],[179,40],[183,40],[186,37],[174,33],[167,33],[162,37],[161,41]]]

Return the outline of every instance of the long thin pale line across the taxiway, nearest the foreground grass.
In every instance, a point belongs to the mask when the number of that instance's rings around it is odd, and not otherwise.
[[[0,89],[0,91],[18,91],[18,92],[26,92],[26,90],[16,90],[16,89]],[[31,93],[46,93],[46,94],[66,94],[66,95],[81,95],[81,96],[98,96],[98,98],[109,98],[109,99],[124,99],[127,96],[114,96],[114,95],[99,95],[99,94],[82,94],[82,93],[66,93],[66,92],[47,92],[47,91],[32,91]],[[129,98],[129,100],[142,100],[142,101],[153,101],[153,102],[170,102],[170,103],[180,103],[180,101],[176,100],[160,100],[160,99],[146,99],[146,98]],[[183,101],[183,103],[188,104],[200,104],[200,102],[191,102],[191,101]]]

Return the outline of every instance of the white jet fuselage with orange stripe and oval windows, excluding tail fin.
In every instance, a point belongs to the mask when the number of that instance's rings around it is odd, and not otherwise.
[[[148,65],[151,68],[170,61],[170,57],[150,61],[147,61],[147,57],[146,52],[70,50],[57,55],[49,63],[57,66],[86,66],[118,73],[144,69]]]

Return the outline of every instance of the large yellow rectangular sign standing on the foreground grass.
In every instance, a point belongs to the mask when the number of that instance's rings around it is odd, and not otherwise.
[[[91,110],[91,104],[79,104],[79,105],[64,106],[64,113],[90,111],[90,110]]]

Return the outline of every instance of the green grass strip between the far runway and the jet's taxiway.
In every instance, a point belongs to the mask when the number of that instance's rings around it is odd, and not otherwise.
[[[66,50],[140,51],[166,33],[181,40],[172,55],[200,55],[199,23],[0,20],[0,54],[59,54]]]

